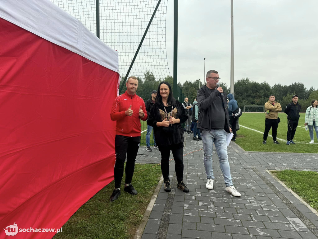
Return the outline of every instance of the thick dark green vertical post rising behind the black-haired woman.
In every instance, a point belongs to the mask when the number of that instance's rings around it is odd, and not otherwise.
[[[173,95],[177,99],[178,92],[178,0],[173,5]]]

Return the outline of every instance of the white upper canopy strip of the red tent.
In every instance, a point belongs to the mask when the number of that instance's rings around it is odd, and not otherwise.
[[[119,72],[118,52],[49,0],[1,0],[0,17],[95,63]]]

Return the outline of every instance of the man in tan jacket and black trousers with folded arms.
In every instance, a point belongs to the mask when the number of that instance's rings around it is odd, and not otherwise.
[[[280,122],[280,119],[278,117],[278,112],[281,112],[281,106],[280,103],[275,101],[275,96],[270,95],[269,101],[265,103],[265,131],[263,135],[263,144],[266,144],[268,132],[272,127],[272,136],[274,140],[274,144],[280,144],[276,140],[277,136],[277,127]]]

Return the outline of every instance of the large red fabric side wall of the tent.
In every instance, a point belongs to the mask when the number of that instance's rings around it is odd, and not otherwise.
[[[0,18],[1,228],[61,228],[113,180],[118,78]]]

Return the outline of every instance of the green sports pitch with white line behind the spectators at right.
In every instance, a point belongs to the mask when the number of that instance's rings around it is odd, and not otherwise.
[[[243,113],[239,118],[240,130],[237,131],[236,143],[246,151],[267,152],[297,152],[318,153],[318,144],[314,132],[315,144],[309,144],[309,130],[304,127],[305,113],[300,113],[299,124],[294,137],[296,144],[286,145],[287,118],[285,113],[279,113],[280,123],[277,128],[277,141],[281,144],[273,144],[272,130],[269,131],[267,144],[262,144],[265,129],[265,113]]]

